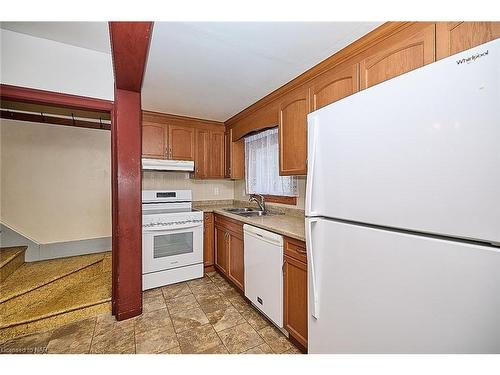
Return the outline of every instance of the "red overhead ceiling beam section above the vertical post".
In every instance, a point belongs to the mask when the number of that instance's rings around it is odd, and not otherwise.
[[[109,22],[115,87],[140,92],[153,22]]]

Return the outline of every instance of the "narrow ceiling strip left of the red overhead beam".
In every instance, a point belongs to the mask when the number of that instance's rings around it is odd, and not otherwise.
[[[1,28],[111,54],[107,22],[2,22]]]

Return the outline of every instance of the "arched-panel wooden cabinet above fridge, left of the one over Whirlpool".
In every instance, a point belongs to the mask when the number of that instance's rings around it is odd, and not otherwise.
[[[360,63],[366,89],[435,61],[435,24],[417,23],[368,49]]]

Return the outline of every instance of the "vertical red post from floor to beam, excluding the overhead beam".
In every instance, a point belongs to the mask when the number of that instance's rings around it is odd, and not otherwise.
[[[113,120],[113,307],[122,320],[142,313],[141,94],[115,89]]]

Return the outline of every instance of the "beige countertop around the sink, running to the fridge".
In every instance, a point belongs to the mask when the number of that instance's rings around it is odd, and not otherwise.
[[[227,216],[231,219],[241,221],[245,224],[282,234],[287,237],[305,241],[305,221],[302,215],[291,215],[285,211],[284,215],[244,217],[224,211],[224,208],[242,207],[242,204],[221,202],[220,204],[203,204],[203,202],[193,202],[193,207],[203,212],[213,212]],[[277,207],[269,207],[270,211],[277,211]],[[290,211],[290,210],[288,210]]]

